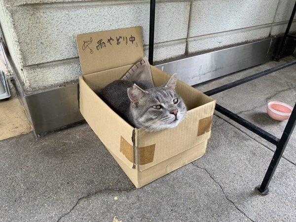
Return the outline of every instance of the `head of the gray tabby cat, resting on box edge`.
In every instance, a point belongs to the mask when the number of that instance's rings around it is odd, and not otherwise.
[[[177,126],[186,115],[186,106],[176,93],[177,74],[166,84],[147,90],[136,84],[128,88],[131,112],[136,127],[155,132]]]

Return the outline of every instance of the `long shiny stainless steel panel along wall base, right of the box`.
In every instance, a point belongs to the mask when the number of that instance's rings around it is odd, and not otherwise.
[[[270,61],[274,45],[275,40],[266,39],[164,63],[156,67],[169,74],[177,73],[180,80],[189,85],[195,85]]]

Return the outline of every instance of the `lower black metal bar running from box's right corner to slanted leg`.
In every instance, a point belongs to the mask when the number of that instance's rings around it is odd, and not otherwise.
[[[267,133],[265,130],[259,128],[258,126],[254,125],[253,123],[249,122],[248,120],[233,113],[232,111],[229,111],[218,104],[216,104],[215,110],[221,112],[223,115],[229,117],[233,121],[237,122],[238,124],[242,125],[243,127],[247,128],[248,130],[252,131],[253,133],[256,133],[258,136],[262,137],[263,139],[267,140],[268,142],[270,142],[274,145],[277,145],[279,143],[278,138],[271,135],[270,133]]]

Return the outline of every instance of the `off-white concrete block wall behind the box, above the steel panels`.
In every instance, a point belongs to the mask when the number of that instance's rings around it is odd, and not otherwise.
[[[282,34],[294,3],[158,0],[154,61]],[[148,54],[149,0],[0,0],[0,23],[29,92],[77,81],[77,34],[142,26]]]

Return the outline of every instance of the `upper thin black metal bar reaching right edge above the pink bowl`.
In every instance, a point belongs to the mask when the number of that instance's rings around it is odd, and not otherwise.
[[[245,78],[236,80],[234,82],[230,82],[228,84],[222,85],[222,86],[217,87],[215,89],[211,89],[209,91],[204,92],[204,94],[206,94],[207,96],[212,96],[214,94],[220,93],[220,92],[225,91],[227,89],[230,89],[232,87],[241,85],[243,83],[249,82],[251,80],[254,80],[256,78],[262,77],[262,76],[267,75],[267,74],[271,74],[273,72],[279,71],[281,69],[287,68],[287,67],[292,66],[292,65],[295,65],[295,64],[296,64],[296,60],[295,61],[292,61],[292,62],[289,62],[289,63],[285,63],[285,64],[282,64],[282,65],[279,65],[279,66],[276,66],[276,67],[273,67],[273,68],[268,69],[268,70],[264,70],[264,71],[262,71],[260,73],[257,73],[257,74],[254,74],[254,75],[250,75],[248,77],[245,77]]]

